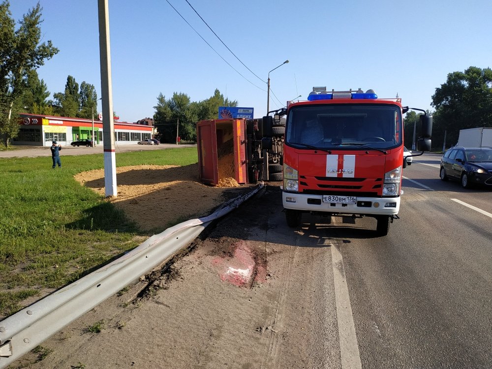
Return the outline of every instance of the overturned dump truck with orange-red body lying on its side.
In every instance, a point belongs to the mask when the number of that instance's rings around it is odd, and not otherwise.
[[[282,181],[285,121],[215,119],[197,123],[200,181],[231,186]]]

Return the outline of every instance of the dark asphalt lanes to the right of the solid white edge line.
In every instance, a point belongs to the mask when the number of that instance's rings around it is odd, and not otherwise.
[[[492,367],[492,192],[442,182],[439,159],[404,170],[387,237],[338,231],[364,368]]]

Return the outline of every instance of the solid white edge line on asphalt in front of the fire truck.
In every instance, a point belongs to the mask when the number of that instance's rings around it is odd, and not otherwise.
[[[335,301],[337,305],[338,338],[342,369],[362,369],[361,355],[355,334],[354,318],[350,306],[343,257],[335,245],[331,245]]]

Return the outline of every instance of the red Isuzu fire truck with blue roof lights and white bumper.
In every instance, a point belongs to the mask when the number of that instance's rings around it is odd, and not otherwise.
[[[402,107],[400,98],[378,98],[373,90],[315,87],[307,101],[264,117],[268,126],[286,114],[282,201],[287,224],[298,226],[303,213],[371,216],[377,235],[387,235],[390,222],[399,218],[402,114],[408,109],[415,108]],[[424,111],[420,117],[423,154],[431,149],[432,116]]]

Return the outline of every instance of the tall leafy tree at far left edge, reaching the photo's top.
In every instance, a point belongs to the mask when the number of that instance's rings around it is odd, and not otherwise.
[[[10,3],[0,3],[0,134],[3,143],[19,132],[17,112],[19,102],[27,89],[25,81],[31,70],[44,65],[58,53],[51,40],[41,40],[41,6],[36,6],[24,14],[15,30],[15,21],[10,12]]]

